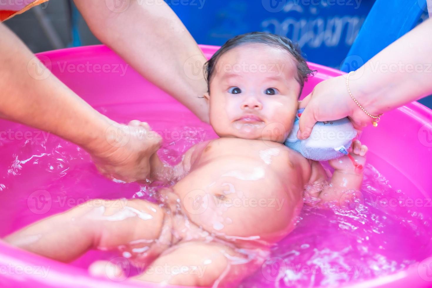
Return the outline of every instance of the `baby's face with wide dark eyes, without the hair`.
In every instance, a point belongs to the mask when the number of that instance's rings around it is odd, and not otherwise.
[[[297,66],[287,51],[264,44],[223,54],[210,79],[210,123],[221,137],[284,142],[298,108]]]

